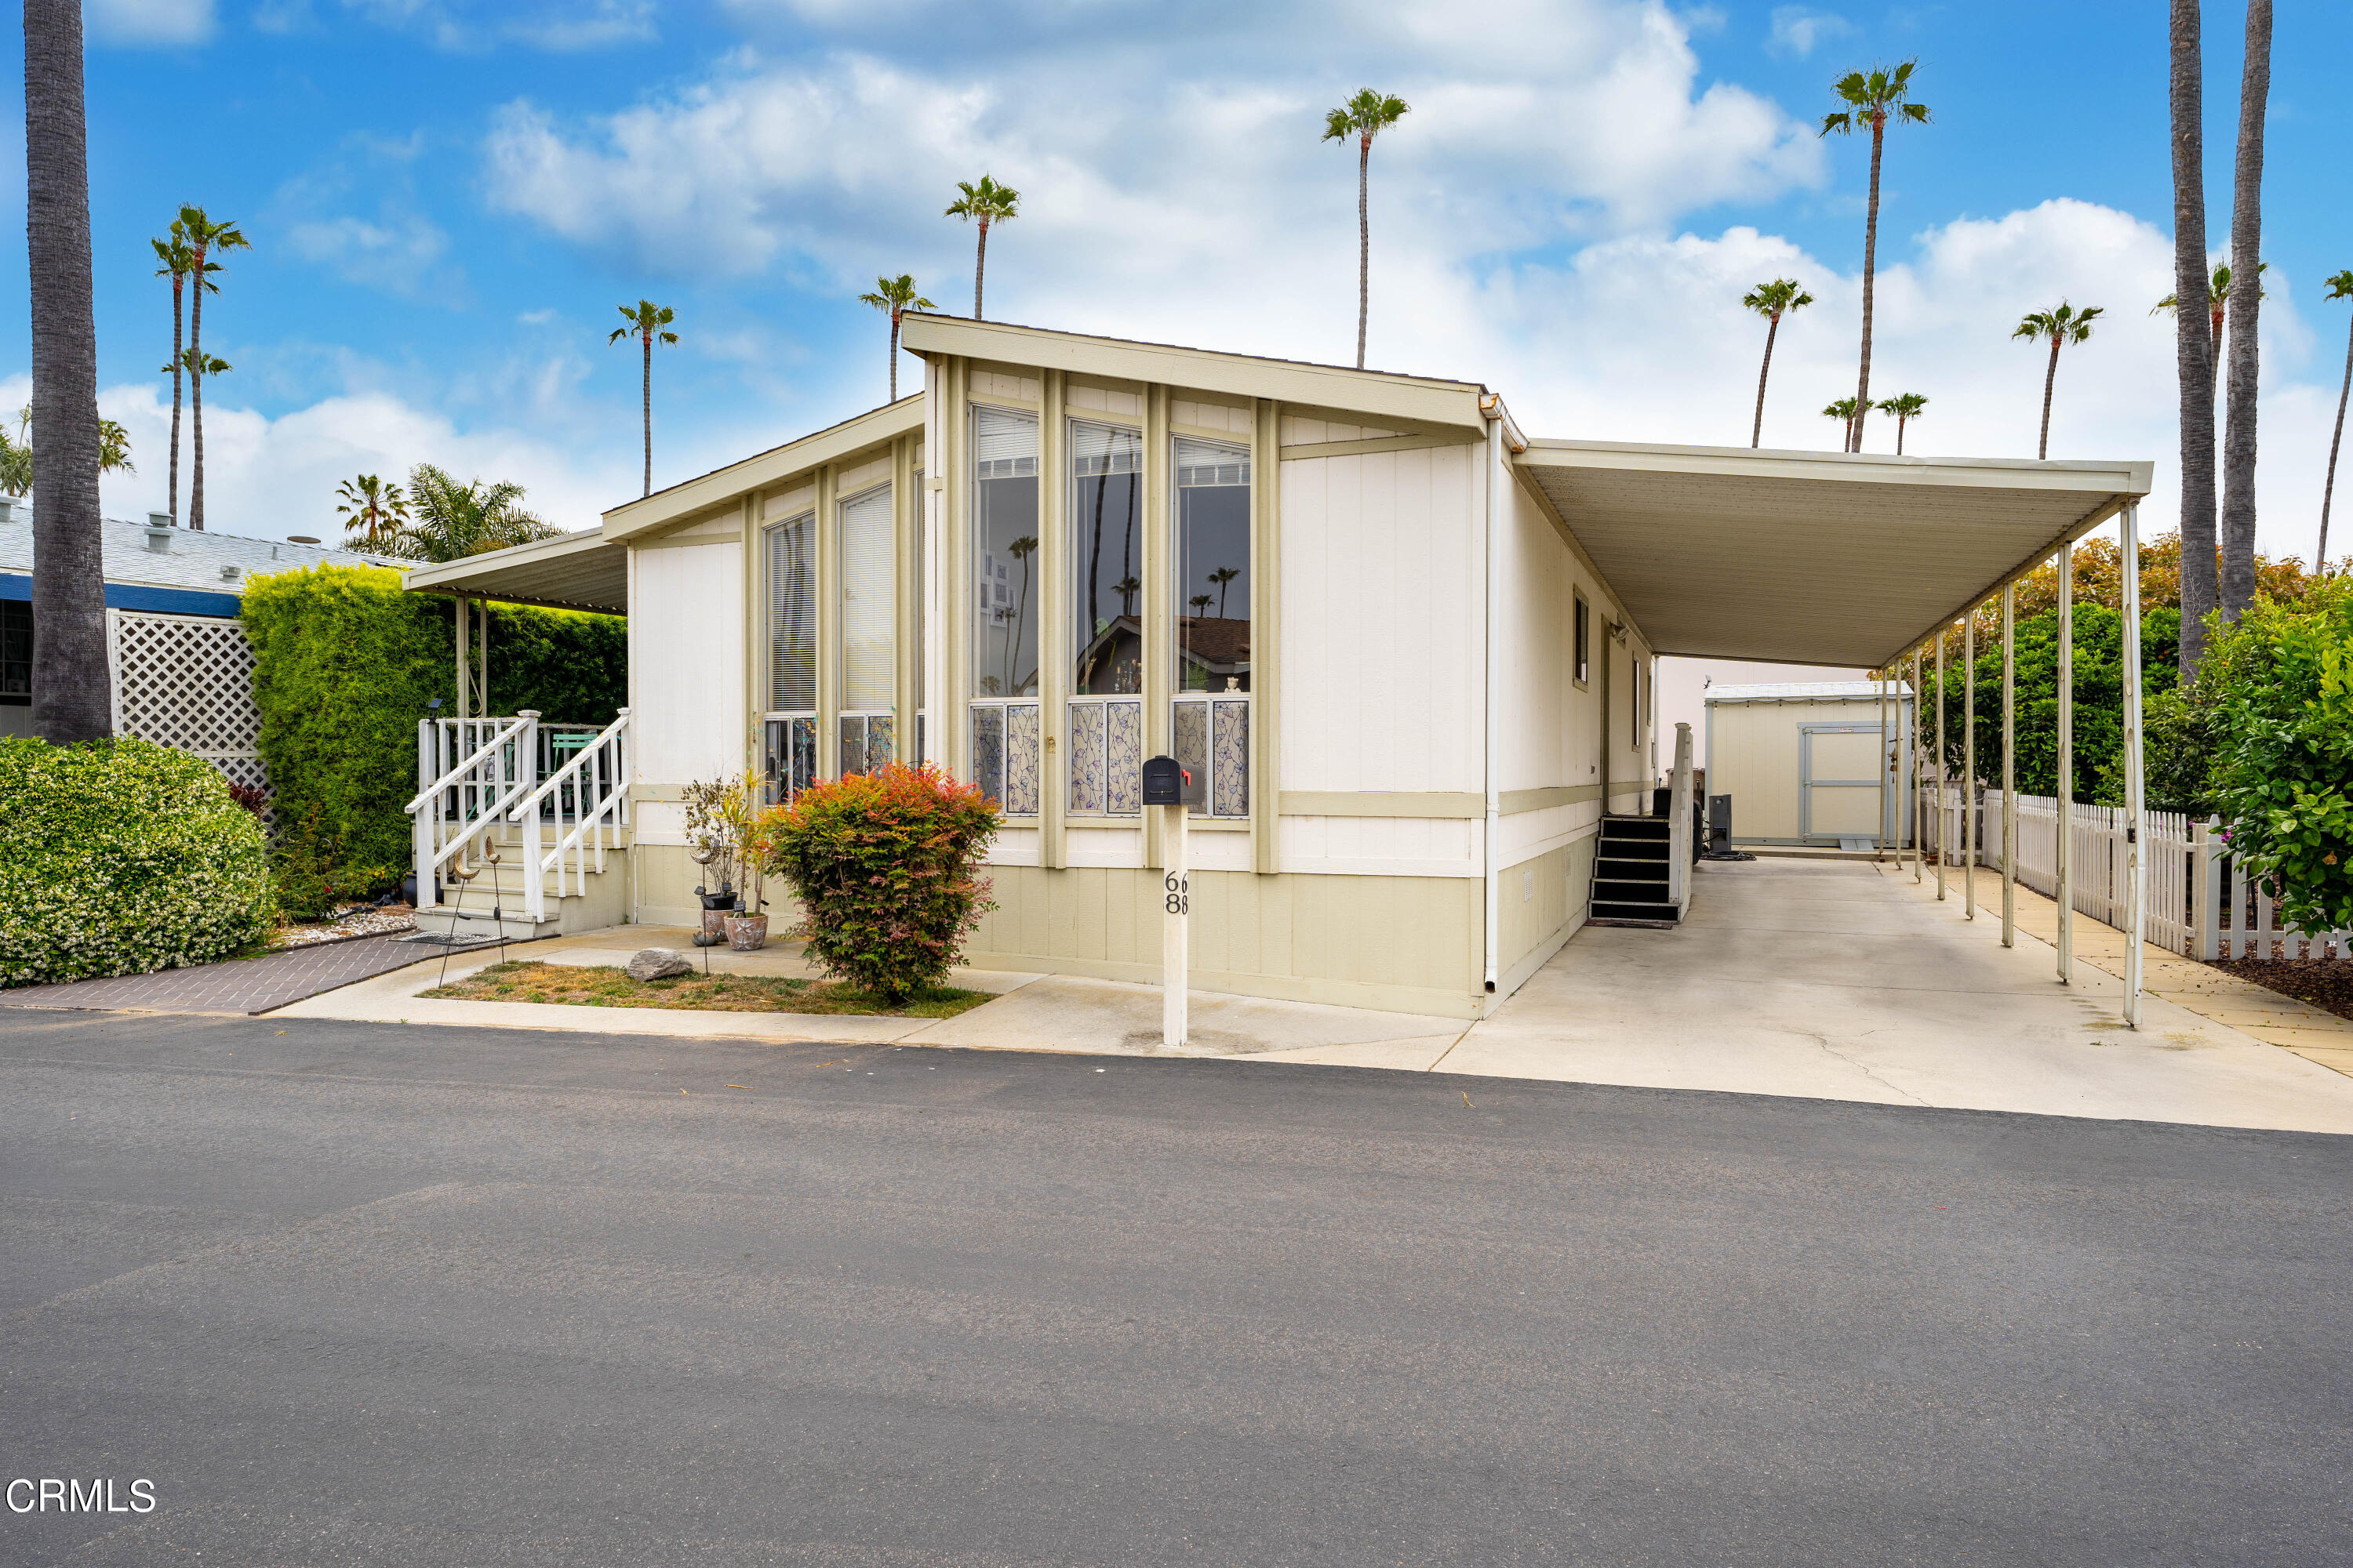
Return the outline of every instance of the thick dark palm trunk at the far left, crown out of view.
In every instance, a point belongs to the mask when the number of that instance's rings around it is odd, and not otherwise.
[[[68,745],[113,729],[82,0],[24,0],[24,186],[33,407],[49,447],[33,487],[33,733]]]

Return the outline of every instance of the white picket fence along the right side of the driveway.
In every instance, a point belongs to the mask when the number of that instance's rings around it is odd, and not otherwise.
[[[1934,806],[1934,783],[1922,780],[1927,856],[1951,846],[1948,865],[1962,865],[1967,842],[1977,863],[2000,870],[2002,792],[1981,790],[1977,832],[1960,820],[1960,780],[1944,785],[1944,809]],[[2353,961],[2353,931],[2294,931],[2280,924],[2278,898],[2231,863],[2219,823],[2193,823],[2179,811],[2148,811],[2141,863],[2148,903],[2141,936],[2167,952],[2195,959],[2334,959]],[[2073,844],[2073,905],[2097,922],[2125,924],[2125,811],[2078,804],[2068,813]],[[2019,797],[2019,882],[2059,896],[2059,802],[2049,795]]]

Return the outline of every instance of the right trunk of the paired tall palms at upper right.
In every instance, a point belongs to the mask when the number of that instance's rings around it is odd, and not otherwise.
[[[2238,158],[2231,169],[2231,357],[2221,430],[2221,616],[2254,604],[2254,378],[2264,303],[2264,106],[2271,99],[2271,0],[2247,0],[2247,52],[2238,82]]]

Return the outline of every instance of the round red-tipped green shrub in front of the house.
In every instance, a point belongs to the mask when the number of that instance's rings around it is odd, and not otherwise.
[[[972,872],[995,835],[998,809],[976,788],[892,764],[760,813],[751,851],[800,898],[826,973],[896,1006],[939,985],[995,907]]]

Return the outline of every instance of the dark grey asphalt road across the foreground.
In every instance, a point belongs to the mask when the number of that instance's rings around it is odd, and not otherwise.
[[[2301,1568],[2348,1197],[2306,1133],[19,1016],[0,1472],[158,1507],[0,1561]]]

